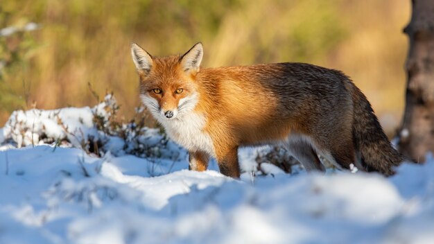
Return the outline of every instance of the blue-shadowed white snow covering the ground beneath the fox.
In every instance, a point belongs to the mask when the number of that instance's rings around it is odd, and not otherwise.
[[[288,175],[271,165],[272,174],[253,177],[250,149],[240,153],[248,172],[233,180],[215,163],[186,170],[185,151],[171,141],[160,157],[130,155],[137,145],[98,132],[96,112],[15,112],[0,129],[1,244],[434,243],[433,157],[390,178]],[[89,134],[104,137],[102,157],[80,148]],[[161,140],[154,130],[138,139],[151,151]]]

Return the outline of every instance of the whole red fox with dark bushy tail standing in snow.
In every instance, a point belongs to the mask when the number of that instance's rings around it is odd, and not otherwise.
[[[307,171],[324,171],[318,155],[384,175],[403,160],[341,71],[297,62],[206,69],[200,42],[184,55],[153,57],[137,44],[131,53],[141,101],[189,151],[191,170],[214,157],[223,175],[240,177],[238,148],[264,144],[285,146]]]

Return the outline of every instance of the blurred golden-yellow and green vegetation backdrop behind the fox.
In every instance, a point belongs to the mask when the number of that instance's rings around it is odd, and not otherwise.
[[[392,135],[403,114],[409,19],[409,0],[3,0],[0,127],[14,110],[94,106],[94,93],[101,100],[106,91],[128,118],[139,105],[130,42],[170,55],[201,41],[204,67],[340,69]]]

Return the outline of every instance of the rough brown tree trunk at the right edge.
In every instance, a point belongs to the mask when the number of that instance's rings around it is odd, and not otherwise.
[[[406,61],[406,110],[399,131],[399,150],[417,162],[434,152],[434,1],[412,0]]]

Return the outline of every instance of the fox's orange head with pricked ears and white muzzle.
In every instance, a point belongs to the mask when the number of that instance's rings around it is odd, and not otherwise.
[[[139,73],[141,101],[155,119],[179,119],[198,103],[196,74],[203,48],[199,42],[184,55],[153,57],[139,45],[131,45],[132,61]]]

